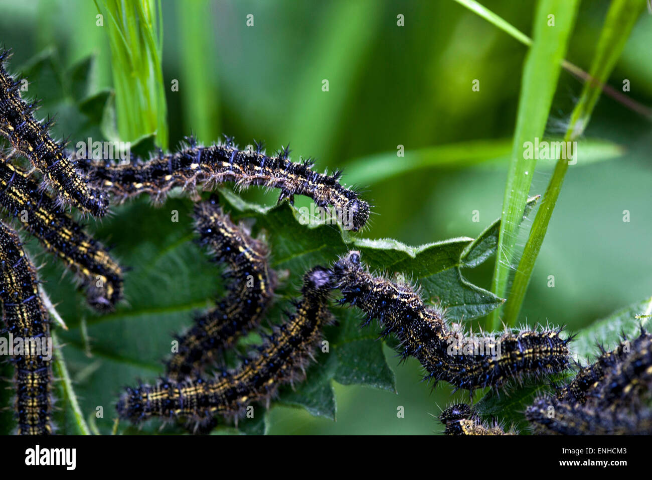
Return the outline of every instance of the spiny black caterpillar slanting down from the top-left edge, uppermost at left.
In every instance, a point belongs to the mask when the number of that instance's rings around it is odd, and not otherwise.
[[[12,147],[27,157],[42,172],[46,184],[57,192],[57,206],[72,204],[82,212],[104,216],[108,197],[102,189],[87,185],[68,159],[65,146],[50,137],[52,121],[40,123],[34,118],[37,103],[25,103],[20,95],[20,80],[8,74],[5,63],[9,50],[0,52],[0,134]]]

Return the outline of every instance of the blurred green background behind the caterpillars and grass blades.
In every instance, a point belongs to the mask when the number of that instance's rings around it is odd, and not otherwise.
[[[533,1],[481,3],[531,35]],[[567,59],[584,70],[607,7],[607,1],[581,4]],[[506,158],[364,181],[376,168],[376,155],[402,161],[396,157],[398,145],[409,152],[511,137],[526,48],[494,25],[452,0],[170,0],[162,1],[162,13],[171,148],[191,131],[203,142],[217,140],[220,133],[235,136],[241,145],[265,140],[269,149],[290,142],[293,158],[316,157],[320,170],[344,167],[344,182],[363,187],[378,214],[364,232],[368,238],[419,245],[475,237],[500,216]],[[14,68],[46,49],[54,49],[64,66],[95,53],[95,88],[110,88],[108,36],[96,27],[96,14],[89,0],[0,0],[0,41],[14,50]],[[246,25],[248,14],[254,15],[253,27]],[[396,24],[398,14],[404,15],[404,27]],[[609,82],[621,89],[629,79],[627,95],[645,105],[652,105],[650,45],[652,15],[646,10]],[[329,81],[327,92],[323,79]],[[480,80],[477,92],[471,90],[475,79]],[[171,91],[173,80],[179,80],[178,92]],[[564,131],[580,89],[580,82],[563,71],[550,135]],[[30,93],[48,94],[38,85]],[[603,96],[585,137],[610,140],[627,153],[570,168],[526,296],[524,323],[550,321],[577,330],[652,293],[651,123]],[[364,168],[347,176],[346,166],[364,157],[369,157]],[[531,193],[542,193],[551,171],[552,165],[539,162]],[[245,195],[265,204],[275,201],[274,193],[258,189]],[[623,222],[623,210],[630,212],[629,223]],[[469,279],[488,288],[492,262],[477,270]],[[554,288],[547,287],[550,275]],[[440,430],[428,413],[437,415],[437,405],[449,402],[449,388],[431,393],[419,383],[417,362],[397,366],[393,351],[386,350],[396,366],[398,394],[338,385],[336,422],[274,407],[270,433]],[[396,417],[397,406],[405,407],[404,419]]]

